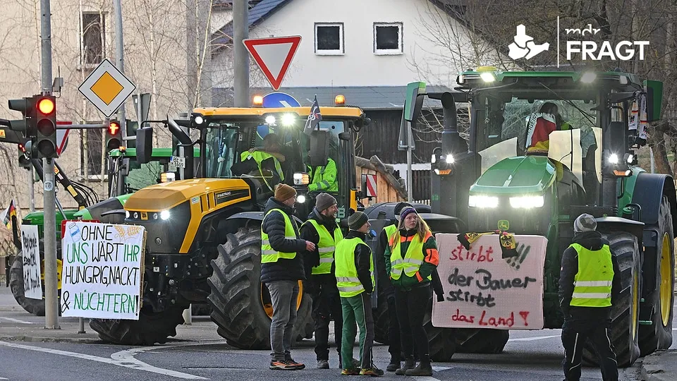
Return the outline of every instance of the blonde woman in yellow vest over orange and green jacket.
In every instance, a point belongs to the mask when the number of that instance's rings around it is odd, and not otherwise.
[[[396,375],[432,375],[428,337],[423,317],[432,295],[432,272],[439,265],[437,241],[428,225],[413,207],[405,207],[400,214],[398,230],[391,237],[384,253],[386,271],[395,286],[395,303],[400,337],[405,354],[404,365]],[[414,341],[420,357],[415,367]]]

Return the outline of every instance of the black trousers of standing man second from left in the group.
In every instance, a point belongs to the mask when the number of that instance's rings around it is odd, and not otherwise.
[[[333,281],[331,280],[333,279]],[[315,356],[329,361],[329,322],[334,319],[336,351],[341,356],[341,296],[338,295],[335,277],[310,277],[312,291],[312,320],[315,322]]]

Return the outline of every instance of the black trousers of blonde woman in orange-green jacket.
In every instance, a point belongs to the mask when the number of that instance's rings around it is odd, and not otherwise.
[[[423,328],[423,317],[429,301],[429,283],[413,287],[411,291],[395,287],[397,320],[400,323],[402,349],[407,357],[414,355],[414,343],[421,358],[429,354],[428,337]]]

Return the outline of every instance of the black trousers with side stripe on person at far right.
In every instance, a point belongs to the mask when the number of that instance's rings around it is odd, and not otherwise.
[[[567,381],[580,380],[581,357],[583,344],[590,340],[597,352],[602,380],[618,381],[618,363],[614,346],[609,339],[608,320],[565,320],[562,327],[562,346],[564,360],[562,367]]]

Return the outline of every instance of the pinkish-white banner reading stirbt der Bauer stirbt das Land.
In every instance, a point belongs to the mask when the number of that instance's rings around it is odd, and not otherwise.
[[[432,325],[453,328],[542,329],[543,236],[514,236],[517,257],[501,258],[497,234],[465,250],[457,234],[437,234],[445,300],[434,301]]]

